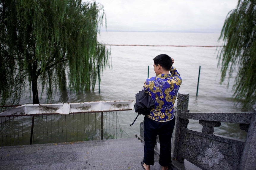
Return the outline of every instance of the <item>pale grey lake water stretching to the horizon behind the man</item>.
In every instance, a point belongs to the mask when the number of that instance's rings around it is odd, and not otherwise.
[[[182,77],[179,93],[189,93],[190,112],[241,112],[241,106],[235,106],[232,99],[232,81],[227,88],[227,81],[220,82],[220,68],[217,68],[217,54],[219,47],[219,33],[158,33],[158,32],[101,32],[99,42],[115,45],[155,45],[155,46],[109,46],[111,50],[110,65],[101,74],[100,93],[98,84],[93,92],[84,95],[69,94],[66,102],[109,101],[109,100],[135,100],[135,94],[142,90],[146,78],[155,76],[153,58],[159,54],[167,54],[174,59],[176,67]],[[161,45],[161,46],[157,46]],[[187,47],[173,47],[187,46]],[[149,66],[149,72],[148,72]],[[199,67],[200,80],[198,95],[197,80]],[[44,103],[45,98],[40,103]],[[21,104],[31,103],[23,99]],[[63,102],[56,95],[53,103]],[[130,136],[140,134],[139,124],[143,121],[142,115],[138,117],[132,127],[130,124],[137,116],[134,111],[118,112],[121,128]],[[189,127],[201,130],[202,126],[190,120]],[[214,133],[244,139],[245,132],[239,125],[222,123],[221,127],[214,127]]]

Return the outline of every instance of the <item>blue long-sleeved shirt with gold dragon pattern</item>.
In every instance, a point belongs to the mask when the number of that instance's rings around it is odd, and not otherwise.
[[[171,67],[170,73],[150,77],[144,83],[143,90],[149,92],[155,103],[150,114],[146,115],[149,119],[167,122],[174,117],[174,103],[182,79],[176,68]]]

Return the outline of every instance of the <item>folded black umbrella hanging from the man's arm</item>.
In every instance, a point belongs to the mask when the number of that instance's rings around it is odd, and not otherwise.
[[[145,93],[145,90],[139,91],[139,93],[135,95],[135,98],[136,103],[134,105],[134,110],[136,113],[138,113],[137,117],[139,116],[139,114],[149,114],[150,110],[155,107],[155,104],[152,101],[149,93]],[[137,117],[135,118],[135,120],[137,119]],[[135,120],[132,122],[132,124],[130,124],[130,126],[134,124]]]

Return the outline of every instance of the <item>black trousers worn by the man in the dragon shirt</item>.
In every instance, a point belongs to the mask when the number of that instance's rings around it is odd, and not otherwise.
[[[171,161],[171,138],[175,125],[175,116],[168,122],[157,122],[144,117],[144,159],[147,165],[154,165],[154,147],[157,141],[157,134],[160,143],[159,164],[170,165]]]

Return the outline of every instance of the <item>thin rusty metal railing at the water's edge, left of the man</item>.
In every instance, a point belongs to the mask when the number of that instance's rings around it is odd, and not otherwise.
[[[122,103],[122,102],[121,102]],[[0,146],[28,145],[42,143],[62,143],[87,140],[118,139],[127,133],[120,127],[118,113],[132,110],[132,102],[127,108],[120,103],[110,103],[113,110],[99,109],[82,110],[69,114],[40,113],[42,108],[48,111],[53,106],[32,105],[31,108],[23,108],[26,113],[15,113],[8,115],[6,112],[0,114]],[[91,105],[91,103],[89,103]],[[93,103],[95,104],[95,103]],[[109,103],[104,103],[108,105]],[[72,105],[71,105],[72,106]],[[86,108],[88,107],[86,103]],[[47,107],[48,109],[45,109]],[[81,104],[79,105],[81,108]],[[106,106],[105,106],[106,107]],[[74,107],[70,110],[75,109]],[[58,110],[58,109],[55,109]],[[37,111],[37,114],[31,114]],[[4,115],[3,115],[4,114]],[[14,115],[16,114],[16,115]]]

